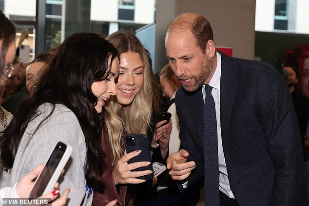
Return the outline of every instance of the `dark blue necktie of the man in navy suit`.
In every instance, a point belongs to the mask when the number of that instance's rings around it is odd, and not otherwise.
[[[204,103],[204,158],[205,206],[219,206],[219,166],[217,120],[212,87],[205,85]]]

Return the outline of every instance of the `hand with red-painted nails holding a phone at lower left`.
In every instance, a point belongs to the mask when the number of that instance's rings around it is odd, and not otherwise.
[[[34,182],[33,179],[38,177],[40,171],[42,170],[44,165],[39,165],[34,168],[31,172],[23,176],[16,185],[16,192],[19,198],[27,198],[29,191],[31,190]],[[58,185],[58,183],[56,184]],[[58,186],[55,186],[58,187]],[[38,198],[50,198],[52,199],[53,206],[64,206],[66,204],[66,200],[68,198],[68,194],[70,189],[66,189],[62,195],[57,199],[59,194],[59,188],[56,188],[54,191],[50,191]],[[5,198],[5,197],[4,197]],[[56,200],[57,199],[57,200]]]

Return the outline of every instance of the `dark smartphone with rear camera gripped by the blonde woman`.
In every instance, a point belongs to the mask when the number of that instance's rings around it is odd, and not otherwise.
[[[142,150],[139,155],[128,161],[129,164],[142,161],[147,161],[151,163],[149,138],[146,134],[127,134],[125,136],[125,144],[127,153],[133,152],[135,150]],[[153,165],[149,164],[147,166],[133,169],[132,171],[143,171],[143,170],[153,170]],[[142,180],[152,180],[153,177],[154,173],[137,178]]]

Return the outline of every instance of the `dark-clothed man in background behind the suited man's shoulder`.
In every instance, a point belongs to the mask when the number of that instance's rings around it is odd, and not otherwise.
[[[283,67],[283,70],[287,74],[287,77],[285,78],[284,81],[289,87],[292,101],[294,104],[294,108],[295,108],[295,112],[296,112],[296,116],[297,116],[297,120],[299,124],[300,134],[301,134],[304,161],[306,162],[308,159],[308,154],[306,152],[306,147],[305,147],[305,136],[306,136],[306,128],[307,128],[307,124],[309,120],[309,100],[303,95],[300,95],[299,91],[297,90],[299,73],[298,73],[298,70],[294,67],[294,65],[285,64]]]

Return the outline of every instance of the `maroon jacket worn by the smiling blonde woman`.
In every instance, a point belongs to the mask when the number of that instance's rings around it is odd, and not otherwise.
[[[121,141],[121,146],[124,149],[124,138]],[[117,199],[117,205],[119,206],[133,206],[135,197],[133,188],[130,185],[117,185],[117,187],[115,185],[113,177],[114,165],[112,166],[114,155],[105,126],[102,128],[101,148],[106,154],[103,162],[103,174],[101,176],[101,180],[105,185],[105,192],[103,194],[94,192],[92,205],[106,206],[112,200]]]

